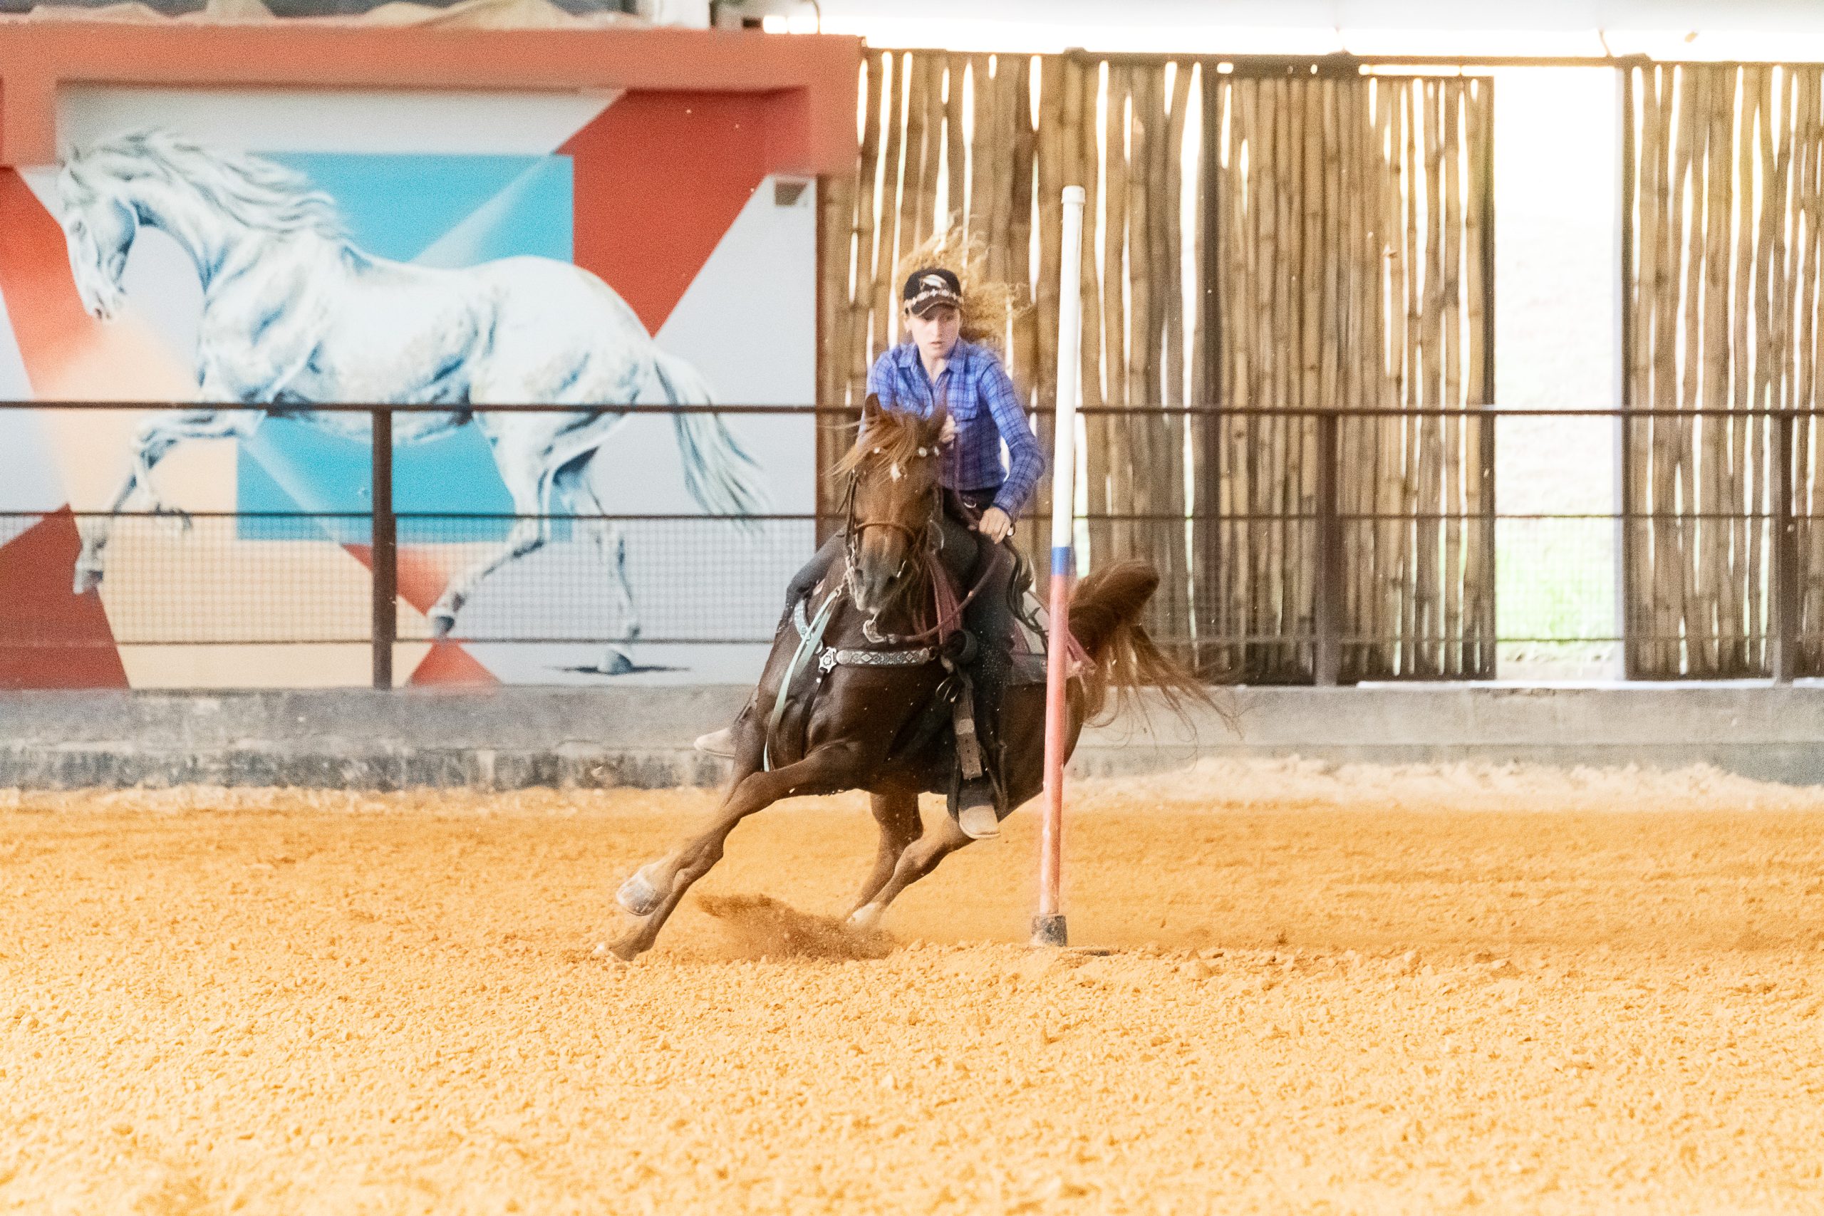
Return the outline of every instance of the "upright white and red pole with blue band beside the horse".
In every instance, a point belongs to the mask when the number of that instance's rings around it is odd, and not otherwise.
[[[1063,749],[1071,722],[1065,707],[1071,631],[1071,583],[1076,576],[1076,390],[1083,345],[1083,188],[1063,188],[1063,244],[1058,283],[1058,412],[1051,459],[1051,640],[1045,645],[1045,824],[1038,853],[1038,917],[1034,946],[1063,946],[1060,897],[1063,879]]]

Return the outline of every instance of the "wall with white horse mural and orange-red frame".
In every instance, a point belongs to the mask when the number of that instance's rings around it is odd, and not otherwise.
[[[372,427],[316,405],[812,401],[815,179],[854,160],[857,66],[854,38],[0,18],[0,403],[126,407],[0,408],[0,687],[368,684]],[[290,410],[235,425],[241,401]],[[476,638],[651,638],[679,598],[735,598],[565,516],[812,509],[808,416],[544,447],[564,416],[432,417],[394,425],[394,510],[421,520],[405,684],[593,671],[596,642]],[[159,505],[195,527],[115,527],[82,589],[95,512],[153,505],[122,498],[151,425],[181,430]],[[432,644],[514,516],[556,518],[516,562],[533,583]],[[784,532],[746,576],[784,585],[814,529]],[[726,660],[686,638],[637,662],[704,682]]]

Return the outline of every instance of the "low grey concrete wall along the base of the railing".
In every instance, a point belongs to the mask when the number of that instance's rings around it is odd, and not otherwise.
[[[0,788],[715,784],[689,740],[748,691],[440,689],[0,695]],[[1824,687],[1233,689],[1237,727],[1166,713],[1085,733],[1074,771],[1160,771],[1202,755],[1330,762],[1715,764],[1824,784]]]

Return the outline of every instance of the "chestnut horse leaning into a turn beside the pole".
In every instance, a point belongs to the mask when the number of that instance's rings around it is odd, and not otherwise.
[[[943,421],[941,410],[919,419],[868,397],[861,436],[837,465],[852,478],[845,560],[799,605],[797,629],[781,623],[759,689],[735,724],[733,780],[715,819],[620,886],[618,902],[637,924],[609,946],[615,955],[633,959],[651,948],[684,893],[720,860],[728,833],[779,799],[872,795],[881,844],[850,912],[855,926],[877,922],[899,891],[969,844],[954,819],[925,830],[917,809],[919,793],[950,788],[956,764],[948,722],[930,729],[930,706],[948,675],[936,642],[956,616],[954,596],[948,611],[939,607],[943,572],[934,560]],[[1067,749],[1085,720],[1109,709],[1111,691],[1156,685],[1173,706],[1209,704],[1209,693],[1140,625],[1156,587],[1151,565],[1118,562],[1071,596],[1071,633],[1087,662],[1076,664],[1069,685]],[[1005,813],[1043,786],[1042,684],[1007,689],[998,735]]]

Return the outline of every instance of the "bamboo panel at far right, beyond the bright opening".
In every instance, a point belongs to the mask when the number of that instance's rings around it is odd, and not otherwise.
[[[1758,676],[1771,665],[1775,419],[1731,414],[1819,405],[1820,73],[1629,69],[1623,401],[1673,412],[1623,427],[1625,649],[1636,678]],[[1817,675],[1824,529],[1813,520],[1824,487],[1811,419],[1789,425],[1797,675]]]

